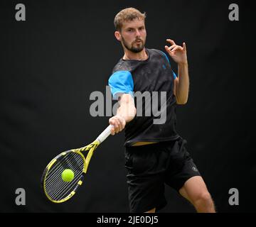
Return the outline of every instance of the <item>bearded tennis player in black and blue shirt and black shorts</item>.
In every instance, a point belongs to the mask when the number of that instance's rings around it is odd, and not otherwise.
[[[112,95],[119,102],[110,124],[114,126],[112,135],[125,128],[129,209],[154,213],[163,208],[164,184],[167,184],[188,199],[196,211],[214,213],[213,199],[186,150],[186,140],[175,128],[176,105],[188,100],[186,44],[180,46],[174,40],[166,40],[169,46],[165,50],[178,64],[176,75],[164,52],[145,48],[145,18],[145,13],[134,8],[123,9],[114,18],[114,35],[122,44],[124,55],[109,79]],[[136,92],[166,92],[164,123],[154,123],[153,114],[137,116]],[[160,101],[157,105],[161,109]]]

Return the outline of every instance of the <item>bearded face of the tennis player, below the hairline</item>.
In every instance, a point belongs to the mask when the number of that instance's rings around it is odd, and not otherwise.
[[[141,52],[146,42],[144,20],[134,19],[123,24],[120,41],[125,48],[132,52]]]

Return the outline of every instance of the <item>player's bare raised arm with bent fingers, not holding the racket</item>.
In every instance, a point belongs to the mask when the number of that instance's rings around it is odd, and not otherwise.
[[[183,46],[176,45],[174,40],[167,39],[171,46],[165,46],[166,52],[178,64],[178,77],[174,80],[174,95],[177,104],[186,104],[188,101],[189,77],[188,77],[188,60],[186,55],[186,44]]]

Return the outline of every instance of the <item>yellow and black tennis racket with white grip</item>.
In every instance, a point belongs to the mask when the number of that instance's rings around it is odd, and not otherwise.
[[[108,126],[95,141],[82,148],[67,150],[53,158],[46,166],[41,177],[43,192],[54,203],[63,203],[70,199],[82,184],[93,152],[100,143],[109,135],[111,128]],[[72,170],[74,177],[70,182],[63,181],[64,170]]]

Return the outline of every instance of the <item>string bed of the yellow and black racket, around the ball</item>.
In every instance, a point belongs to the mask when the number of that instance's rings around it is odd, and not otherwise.
[[[78,153],[70,152],[57,160],[50,168],[45,179],[46,194],[55,201],[64,199],[77,187],[78,181],[82,177],[84,160]],[[74,179],[71,182],[64,182],[61,175],[65,169],[74,172]]]

